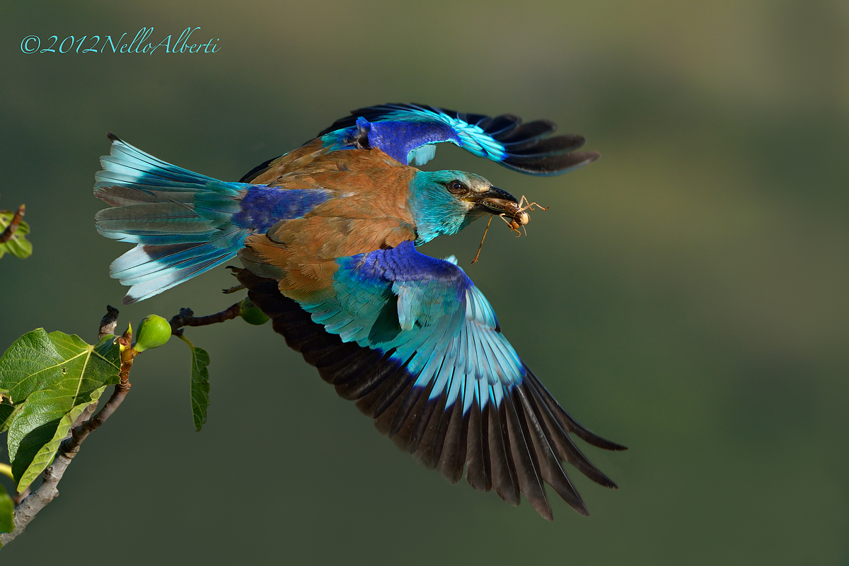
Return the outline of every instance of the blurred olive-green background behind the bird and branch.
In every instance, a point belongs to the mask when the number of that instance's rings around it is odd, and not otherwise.
[[[24,36],[152,38],[215,54],[36,53]],[[189,329],[211,352],[196,434],[188,348],[145,355],[8,563],[841,564],[849,555],[849,4],[150,2],[0,6],[3,208],[34,255],[0,261],[0,348],[92,340],[125,289],[91,193],[104,134],[236,180],[350,109],[422,102],[548,118],[603,158],[533,178],[441,148],[551,206],[527,238],[455,253],[579,421],[630,446],[571,474],[554,523],[451,486],[377,434],[274,334]],[[193,36],[194,38],[194,36]],[[219,311],[223,269],[121,309]],[[240,297],[241,295],[239,295]],[[553,497],[554,494],[552,494]]]

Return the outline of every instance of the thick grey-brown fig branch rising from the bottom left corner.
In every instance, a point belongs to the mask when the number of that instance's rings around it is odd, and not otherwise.
[[[112,329],[115,329],[117,322],[118,311],[110,306],[107,306],[108,313],[101,322],[101,332],[104,328],[104,322],[111,324]],[[110,321],[107,321],[107,319]],[[86,440],[89,434],[92,434],[98,427],[109,418],[115,410],[121,406],[124,397],[130,391],[130,368],[132,368],[132,360],[136,356],[136,351],[131,347],[132,334],[129,329],[118,339],[121,345],[121,369],[118,373],[120,382],[115,385],[115,390],[112,396],[103,408],[96,415],[88,418],[97,408],[97,403],[94,402],[87,406],[80,417],[75,422],[75,427],[70,431],[62,444],[59,445],[59,451],[56,453],[56,458],[53,463],[44,470],[42,483],[38,489],[33,491],[29,496],[23,497],[29,490],[27,488],[24,493],[20,494],[23,501],[14,507],[14,530],[11,533],[3,533],[0,535],[0,542],[3,545],[8,544],[24,532],[26,525],[30,524],[31,520],[44,508],[48,503],[52,502],[59,496],[59,480],[65,475],[65,470],[70,465],[70,461],[80,451],[80,445],[83,440]]]

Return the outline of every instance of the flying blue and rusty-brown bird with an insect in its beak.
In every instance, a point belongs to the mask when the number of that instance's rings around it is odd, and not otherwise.
[[[300,148],[223,182],[116,137],[94,193],[98,232],[136,244],[110,266],[146,300],[238,256],[239,282],[275,332],[381,434],[452,484],[520,494],[553,520],[548,484],[588,515],[568,463],[612,479],[575,437],[605,440],[559,405],[504,337],[492,305],[457,265],[416,247],[483,216],[523,224],[507,191],[464,171],[421,171],[454,143],[514,171],[550,176],[598,159],[550,120],[382,104],[336,120]]]

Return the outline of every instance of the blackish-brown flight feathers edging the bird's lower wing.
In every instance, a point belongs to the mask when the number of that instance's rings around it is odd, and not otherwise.
[[[475,490],[494,490],[509,505],[518,506],[524,494],[548,521],[554,519],[548,502],[548,484],[576,513],[589,511],[565,472],[569,462],[582,474],[611,489],[616,484],[584,457],[569,439],[575,434],[594,446],[625,450],[604,440],[566,413],[530,369],[526,383],[504,398],[499,409],[472,403],[468,414],[461,405],[446,407],[446,399],[430,400],[433,383],[414,388],[403,372],[406,363],[373,350],[363,354],[346,350],[338,335],[313,322],[295,301],[279,293],[277,282],[243,270],[239,282],[250,299],[272,318],[276,332],[318,367],[337,393],[357,399],[357,407],[375,419],[375,427],[396,446],[412,453],[425,467],[436,468],[452,484],[466,475]],[[132,297],[127,296],[132,300]],[[345,354],[346,363],[333,352]],[[330,364],[330,365],[325,365]]]

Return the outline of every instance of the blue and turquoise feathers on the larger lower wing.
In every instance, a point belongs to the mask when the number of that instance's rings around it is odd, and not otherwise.
[[[327,332],[363,347],[394,349],[397,361],[415,354],[408,361],[415,386],[430,384],[435,398],[446,393],[454,372],[503,386],[520,383],[519,357],[486,298],[458,266],[420,254],[412,242],[338,263],[335,297],[301,304]],[[391,297],[395,302],[387,303]],[[391,341],[374,342],[366,331],[385,305],[396,308],[398,328]]]

